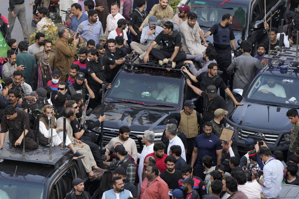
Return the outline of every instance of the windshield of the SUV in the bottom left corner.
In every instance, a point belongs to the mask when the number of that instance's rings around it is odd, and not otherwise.
[[[44,186],[41,184],[26,183],[21,181],[0,180],[1,199],[42,199]]]

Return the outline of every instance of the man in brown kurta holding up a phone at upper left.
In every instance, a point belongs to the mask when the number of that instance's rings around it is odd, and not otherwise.
[[[74,62],[74,55],[76,53],[77,44],[79,42],[79,38],[76,38],[76,34],[73,37],[69,37],[69,31],[67,29],[60,29],[58,31],[59,38],[56,40],[56,67],[61,72],[60,81],[67,82],[65,78],[65,72],[69,75],[70,66]],[[71,47],[69,44],[74,40],[74,46]]]

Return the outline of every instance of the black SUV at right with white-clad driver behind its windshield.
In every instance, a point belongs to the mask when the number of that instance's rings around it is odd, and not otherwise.
[[[292,124],[286,113],[291,108],[299,108],[299,62],[295,60],[295,54],[294,49],[284,47],[282,53],[273,51],[269,64],[255,76],[241,97],[244,105],[233,108],[232,101],[228,101],[226,127],[236,130],[233,139],[239,151],[244,152],[247,138],[263,140],[273,151],[288,150]],[[241,89],[233,90],[236,97],[242,92]]]

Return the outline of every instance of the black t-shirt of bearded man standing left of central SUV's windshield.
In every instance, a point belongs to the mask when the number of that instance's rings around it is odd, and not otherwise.
[[[100,59],[102,59],[102,65]],[[98,92],[98,90],[102,88],[102,85],[95,81],[91,77],[91,74],[95,73],[97,78],[99,78],[100,80],[109,82],[112,80],[112,71],[110,69],[110,65],[113,65],[114,63],[115,60],[108,57],[99,57],[97,62],[87,62],[86,68],[89,79],[88,84],[93,89],[93,91]]]

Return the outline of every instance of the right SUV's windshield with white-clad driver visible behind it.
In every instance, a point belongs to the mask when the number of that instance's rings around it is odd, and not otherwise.
[[[251,86],[247,99],[256,103],[298,107],[297,79],[279,76],[259,76]]]

